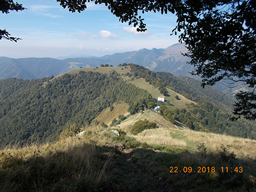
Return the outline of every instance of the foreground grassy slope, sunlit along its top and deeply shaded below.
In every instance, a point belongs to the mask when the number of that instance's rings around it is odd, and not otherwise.
[[[254,191],[256,187],[255,140],[166,128],[118,137],[112,129],[87,127],[80,137],[0,151],[0,189]],[[155,138],[160,135],[164,144]],[[197,147],[199,143],[206,143],[207,149]],[[218,151],[211,148],[213,144]],[[230,145],[230,151],[220,149],[221,144]],[[231,153],[234,148],[237,157]],[[184,167],[192,172],[184,173]],[[199,167],[209,171],[197,173]],[[238,167],[242,173],[225,173],[226,167]]]

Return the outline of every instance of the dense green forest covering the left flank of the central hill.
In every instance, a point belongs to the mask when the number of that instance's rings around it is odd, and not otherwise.
[[[45,88],[44,82],[48,82]],[[155,99],[146,90],[122,82],[115,71],[64,74],[53,80],[1,80],[1,146],[53,141],[69,124],[89,124],[115,101],[146,105]]]

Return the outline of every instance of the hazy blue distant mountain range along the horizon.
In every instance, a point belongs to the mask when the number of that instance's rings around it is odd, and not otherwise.
[[[184,44],[174,44],[166,49],[140,49],[125,53],[115,53],[102,57],[77,57],[68,59],[23,58],[11,59],[0,57],[0,79],[22,78],[31,80],[50,76],[58,76],[71,69],[100,66],[109,64],[117,66],[123,63],[135,63],[155,72],[170,72],[175,76],[189,76],[192,66],[186,64],[187,57],[181,53],[187,52]]]

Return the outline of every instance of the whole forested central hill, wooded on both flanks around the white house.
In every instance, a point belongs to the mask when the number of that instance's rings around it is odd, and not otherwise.
[[[158,96],[153,98],[150,91],[131,84],[138,78],[144,79],[145,86],[155,87],[159,95],[166,95],[167,102],[156,102]],[[174,108],[171,90],[199,105]],[[53,141],[69,124],[92,123],[104,108],[113,108],[115,101],[128,103],[131,115],[162,105],[165,108],[160,107],[160,114],[170,123],[181,122],[195,131],[256,139],[255,124],[245,120],[230,122],[232,102],[212,87],[202,90],[196,80],[123,64],[101,70],[81,69],[56,78],[0,80],[0,144],[5,147]]]

